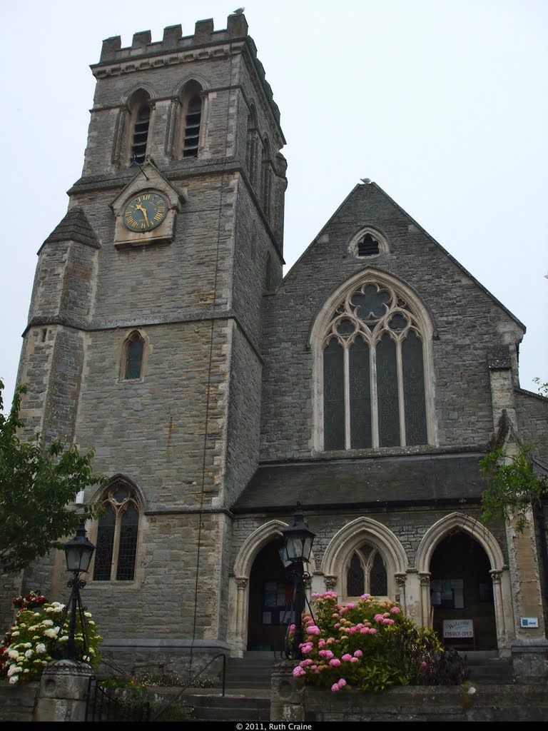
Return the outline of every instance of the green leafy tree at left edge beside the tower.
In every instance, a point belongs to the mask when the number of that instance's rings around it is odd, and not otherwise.
[[[15,390],[7,417],[3,389],[0,381],[0,571],[9,573],[61,548],[60,539],[72,536],[94,515],[90,506],[76,510],[77,493],[103,485],[107,478],[94,474],[93,451],[80,454],[75,444],[61,439],[46,447],[38,434],[21,441],[20,405],[26,387]]]

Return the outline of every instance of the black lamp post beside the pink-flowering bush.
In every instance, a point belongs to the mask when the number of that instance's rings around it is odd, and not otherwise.
[[[289,567],[289,576],[294,584],[295,596],[295,633],[293,640],[292,656],[296,660],[302,660],[302,611],[305,608],[305,568],[304,564],[310,561],[312,544],[316,534],[308,528],[305,516],[300,503],[297,503],[297,510],[293,518],[293,525],[284,528],[283,550],[281,560],[283,565]]]

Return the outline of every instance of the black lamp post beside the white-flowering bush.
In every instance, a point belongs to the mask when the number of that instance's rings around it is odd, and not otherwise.
[[[88,638],[85,632],[84,607],[82,606],[82,598],[80,596],[80,589],[84,588],[85,581],[80,579],[80,574],[88,571],[89,564],[91,564],[91,556],[94,555],[95,546],[85,537],[84,525],[83,523],[80,523],[75,537],[67,541],[63,548],[66,558],[66,570],[72,572],[74,575],[66,584],[66,586],[72,588],[72,591],[70,593],[69,604],[65,610],[68,611],[70,607],[69,641],[66,643],[65,659],[75,660],[75,629],[77,611],[80,613],[80,626],[82,628],[84,640],[83,654],[87,654],[88,651]],[[65,619],[66,613],[61,621],[61,628],[59,629],[58,637],[61,635]]]

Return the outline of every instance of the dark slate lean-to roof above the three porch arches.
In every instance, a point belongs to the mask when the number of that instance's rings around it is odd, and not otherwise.
[[[405,455],[259,466],[232,512],[478,503],[480,453]]]

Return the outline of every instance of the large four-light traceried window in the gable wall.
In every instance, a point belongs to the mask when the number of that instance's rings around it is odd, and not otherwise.
[[[336,300],[319,342],[320,448],[428,443],[424,342],[396,284],[370,276]]]

